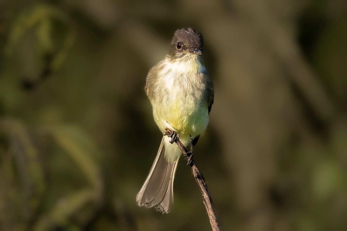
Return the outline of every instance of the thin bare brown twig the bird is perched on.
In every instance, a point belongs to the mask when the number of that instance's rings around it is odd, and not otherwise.
[[[164,133],[164,135],[171,137],[172,132],[169,130],[169,128],[166,128],[165,130],[166,130],[166,133]],[[188,151],[187,151],[186,147],[182,144],[182,142],[178,139],[178,137],[177,137],[177,139],[175,139],[175,143],[178,145],[178,148],[183,152],[183,156],[187,159],[188,158],[188,155],[187,155]],[[202,174],[200,173],[199,169],[196,167],[193,158],[191,159],[191,163],[189,164],[189,166],[191,166],[192,174],[196,180],[196,183],[200,187],[202,197],[204,199],[204,205],[205,205],[205,208],[207,211],[207,215],[209,216],[209,219],[210,219],[211,228],[213,231],[219,231],[218,222],[217,222],[216,216],[214,215],[214,212],[212,209],[212,199],[211,199],[209,190],[207,189],[205,179],[202,176]]]

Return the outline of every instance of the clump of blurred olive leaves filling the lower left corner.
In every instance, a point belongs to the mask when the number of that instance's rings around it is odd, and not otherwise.
[[[82,188],[71,188],[71,192],[60,194],[53,203],[49,203],[50,206],[45,206],[44,203],[49,201],[45,199],[45,194],[48,193],[46,188],[50,183],[44,175],[50,174],[51,170],[47,169],[42,161],[49,153],[40,152],[37,143],[34,142],[38,138],[37,132],[29,132],[22,123],[9,118],[0,121],[0,131],[0,195],[3,198],[0,206],[0,224],[3,229],[22,229],[28,223],[33,224],[34,230],[69,226],[71,217],[81,211],[85,213],[81,218],[82,224],[90,219],[93,213],[85,211],[91,210],[88,208],[89,205],[97,207],[102,194],[102,179],[98,166],[100,151],[90,137],[76,126],[39,129],[39,133],[43,132],[44,136],[53,137],[49,143],[64,150],[59,154],[65,154],[70,161],[74,161],[82,176],[87,179],[87,184]],[[11,207],[14,207],[14,210]],[[42,209],[43,207],[45,208]]]

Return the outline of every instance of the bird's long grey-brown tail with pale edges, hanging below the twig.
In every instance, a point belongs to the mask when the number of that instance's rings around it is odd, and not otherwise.
[[[174,163],[165,160],[164,139],[165,136],[163,136],[151,171],[136,196],[136,202],[138,206],[144,205],[146,208],[155,206],[157,211],[168,213],[174,202],[173,185],[178,160]]]

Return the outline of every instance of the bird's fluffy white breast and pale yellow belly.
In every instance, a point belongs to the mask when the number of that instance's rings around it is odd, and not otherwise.
[[[181,134],[201,134],[208,124],[208,108],[202,99],[205,71],[196,57],[182,61],[164,60],[156,84],[157,102],[152,102],[153,115],[159,128]]]

